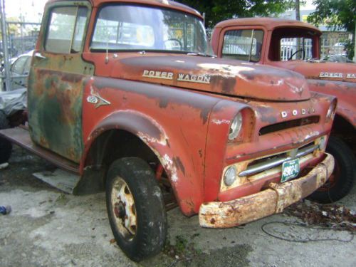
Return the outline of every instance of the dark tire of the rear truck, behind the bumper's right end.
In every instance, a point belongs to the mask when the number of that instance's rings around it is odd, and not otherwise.
[[[342,199],[350,192],[355,181],[355,155],[350,147],[340,138],[331,136],[326,152],[333,155],[335,164],[339,165],[340,177],[328,191],[317,190],[310,195],[310,199],[320,203],[332,203]]]

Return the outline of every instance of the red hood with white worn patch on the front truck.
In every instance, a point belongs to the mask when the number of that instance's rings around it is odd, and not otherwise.
[[[162,56],[158,53],[120,55],[113,61],[112,78],[261,100],[310,98],[303,75],[271,66],[204,56]]]

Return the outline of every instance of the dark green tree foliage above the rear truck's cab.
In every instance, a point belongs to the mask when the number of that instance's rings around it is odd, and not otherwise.
[[[206,27],[219,21],[253,16],[276,16],[294,6],[294,0],[179,0],[206,15]]]

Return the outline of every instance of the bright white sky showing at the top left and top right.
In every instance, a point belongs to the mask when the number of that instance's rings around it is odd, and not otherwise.
[[[47,0],[5,0],[7,17],[19,17],[23,15],[27,22],[40,22],[44,5]],[[307,4],[300,7],[301,10],[313,9],[313,0],[307,0]]]

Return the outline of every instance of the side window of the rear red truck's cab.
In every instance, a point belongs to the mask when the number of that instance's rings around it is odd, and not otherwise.
[[[261,30],[226,31],[222,57],[258,62],[261,59],[262,41]]]

